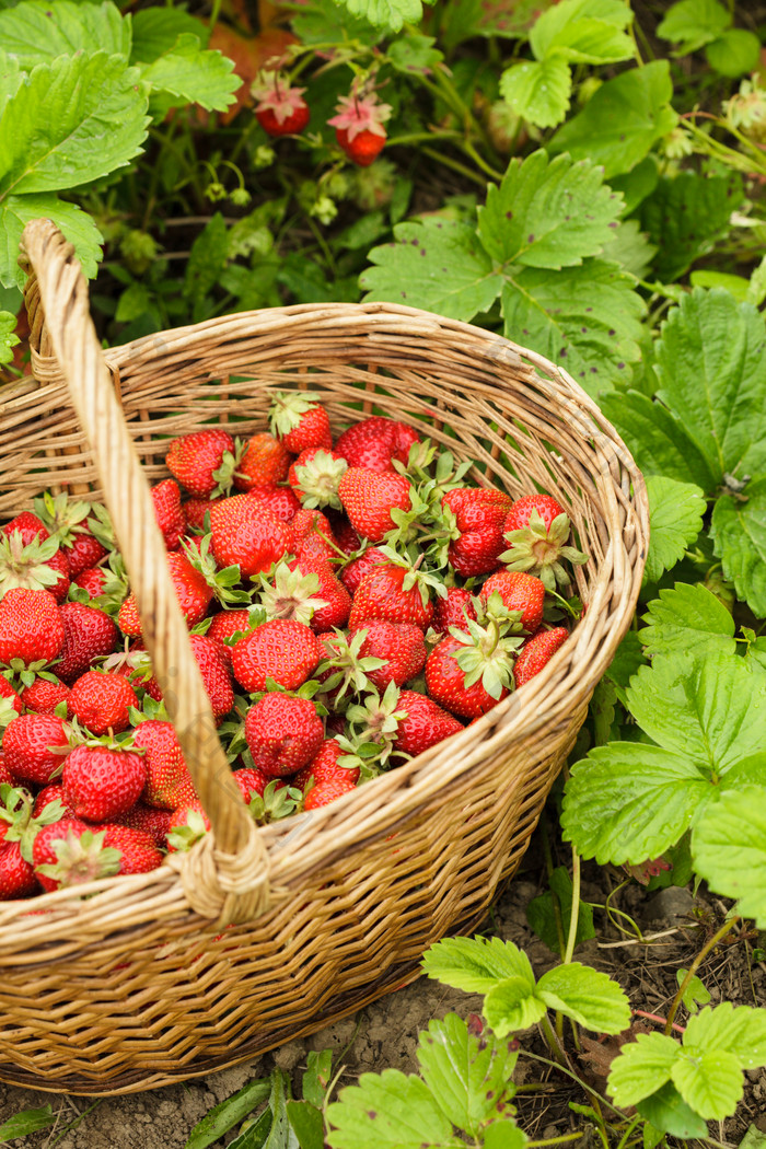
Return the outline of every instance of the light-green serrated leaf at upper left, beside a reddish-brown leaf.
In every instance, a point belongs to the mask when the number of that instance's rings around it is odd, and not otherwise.
[[[220,52],[200,47],[196,36],[184,32],[170,52],[141,67],[141,78],[173,102],[199,103],[208,111],[225,111],[242,86],[234,63]]]

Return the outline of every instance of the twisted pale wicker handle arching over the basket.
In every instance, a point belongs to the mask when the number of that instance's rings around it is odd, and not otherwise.
[[[269,904],[269,858],[220,746],[210,701],[173,589],[149,485],[141,471],[91,319],[75,249],[49,219],[22,239],[32,304],[32,363],[59,360],[93,452],[165,707],[212,832],[171,855],[191,907],[217,925],[247,921]],[[39,347],[39,353],[37,352]]]

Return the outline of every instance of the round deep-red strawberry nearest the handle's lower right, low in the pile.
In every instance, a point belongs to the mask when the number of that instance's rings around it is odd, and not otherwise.
[[[264,694],[245,718],[253,762],[270,778],[294,774],[318,753],[324,726],[308,699]]]

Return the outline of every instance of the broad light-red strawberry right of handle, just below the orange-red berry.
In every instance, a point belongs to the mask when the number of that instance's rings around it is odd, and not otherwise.
[[[223,499],[210,511],[210,523],[216,562],[238,565],[243,579],[268,571],[293,546],[289,524],[249,495]]]

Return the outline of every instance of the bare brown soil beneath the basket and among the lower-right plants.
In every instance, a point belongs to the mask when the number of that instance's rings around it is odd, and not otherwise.
[[[562,857],[564,862],[564,857]],[[524,869],[497,900],[486,924],[487,933],[516,942],[528,955],[537,976],[556,964],[556,956],[528,928],[525,908],[544,888],[540,842],[533,839]],[[606,895],[624,881],[625,876],[608,867],[586,866],[582,896],[603,907]],[[598,938],[585,942],[575,959],[604,970],[616,977],[630,997],[634,1010],[663,1017],[678,988],[676,971],[688,967],[702,946],[721,925],[729,905],[704,890],[693,896],[689,889],[670,887],[649,893],[635,884],[627,885],[610,899],[610,907],[620,911],[611,920],[603,910],[595,911]],[[641,931],[636,938],[630,920]],[[622,924],[620,932],[613,924]],[[728,941],[726,939],[725,941]],[[707,955],[698,976],[710,990],[712,1004],[766,1004],[766,964],[755,961],[761,942],[755,932],[734,934],[733,940]],[[218,1102],[235,1093],[248,1081],[266,1075],[278,1065],[294,1072],[296,1084],[311,1049],[333,1050],[333,1069],[345,1066],[339,1085],[353,1084],[358,1074],[386,1067],[405,1073],[417,1069],[415,1050],[418,1031],[432,1017],[449,1011],[462,1016],[480,1012],[479,996],[444,988],[425,978],[390,994],[388,997],[320,1032],[292,1041],[254,1062],[201,1080],[170,1086],[153,1093],[125,1097],[69,1097],[0,1085],[0,1123],[23,1109],[52,1104],[56,1125],[32,1134],[15,1144],[25,1149],[183,1149],[192,1127]],[[688,1015],[681,1010],[676,1021]],[[660,1028],[658,1021],[636,1019],[639,1026]],[[583,1051],[572,1051],[572,1067],[597,1092],[603,1094],[610,1044],[589,1041]],[[521,1039],[523,1049],[539,1055],[547,1051],[535,1031]],[[542,1071],[542,1072],[541,1072]],[[583,1128],[583,1118],[570,1109],[570,1102],[587,1103],[583,1090],[571,1079],[540,1062],[519,1059],[517,1085],[518,1120],[534,1139],[562,1136]],[[710,1135],[721,1144],[738,1146],[746,1129],[753,1126],[766,1133],[766,1071],[746,1074],[745,1097],[737,1115],[724,1123],[711,1123]],[[231,1135],[226,1139],[231,1140]],[[220,1144],[224,1142],[222,1141]],[[586,1146],[588,1142],[583,1141]]]

